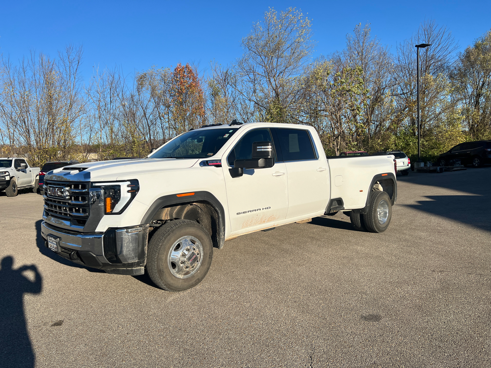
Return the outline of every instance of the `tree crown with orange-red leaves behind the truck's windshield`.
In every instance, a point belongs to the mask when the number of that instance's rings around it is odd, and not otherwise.
[[[177,64],[172,72],[169,92],[176,134],[199,127],[205,118],[205,101],[196,68]]]

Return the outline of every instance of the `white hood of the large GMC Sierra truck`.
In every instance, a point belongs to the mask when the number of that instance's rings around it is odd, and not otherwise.
[[[193,166],[197,158],[140,158],[77,163],[60,167],[46,174],[46,180],[111,181],[135,179],[137,174],[151,171],[184,169]],[[73,168],[73,170],[69,170]]]

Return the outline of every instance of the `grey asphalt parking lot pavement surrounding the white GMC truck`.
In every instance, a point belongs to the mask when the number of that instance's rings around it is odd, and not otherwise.
[[[0,193],[0,366],[490,367],[491,167],[397,178],[385,233],[249,234],[180,293],[65,261]]]

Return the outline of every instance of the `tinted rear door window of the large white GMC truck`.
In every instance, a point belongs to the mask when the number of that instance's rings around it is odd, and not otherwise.
[[[275,128],[284,161],[317,158],[308,131]]]

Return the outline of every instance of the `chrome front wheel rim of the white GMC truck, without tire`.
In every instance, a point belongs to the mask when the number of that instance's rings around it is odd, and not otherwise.
[[[191,236],[177,239],[170,248],[167,264],[177,278],[186,279],[198,270],[203,260],[203,245]]]

